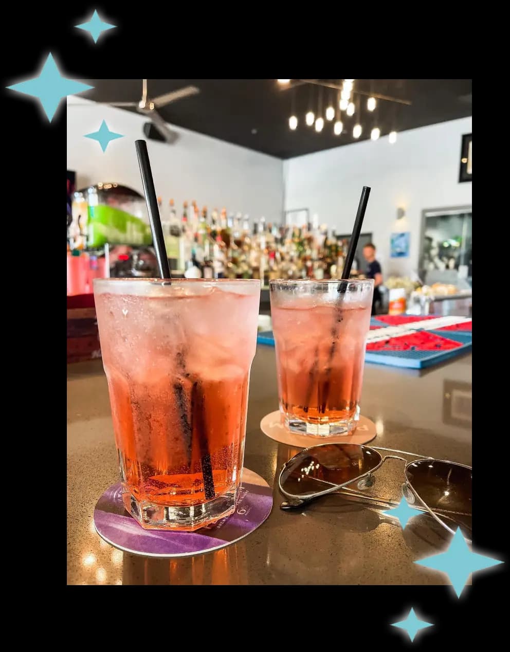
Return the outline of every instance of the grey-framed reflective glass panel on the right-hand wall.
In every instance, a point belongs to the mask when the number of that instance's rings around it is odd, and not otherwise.
[[[419,267],[426,285],[471,287],[472,219],[470,206],[423,211]]]

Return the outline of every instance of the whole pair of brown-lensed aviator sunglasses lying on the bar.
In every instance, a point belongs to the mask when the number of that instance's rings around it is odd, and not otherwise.
[[[397,453],[417,459],[409,462]],[[303,508],[333,493],[398,507],[398,502],[366,492],[376,481],[372,473],[388,459],[406,464],[402,494],[410,507],[428,513],[451,534],[455,530],[445,520],[457,524],[471,538],[472,467],[406,451],[348,443],[325,443],[304,449],[282,466],[278,486],[287,500],[280,508]],[[356,488],[348,486],[354,483]]]

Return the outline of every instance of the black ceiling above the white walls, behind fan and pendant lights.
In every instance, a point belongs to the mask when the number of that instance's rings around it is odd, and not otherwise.
[[[95,86],[86,97],[97,102],[129,102],[142,96],[142,80],[87,80]],[[338,83],[339,80],[322,80]],[[149,80],[149,98],[186,85],[195,85],[200,95],[188,97],[160,109],[164,119],[207,136],[249,147],[259,152],[290,158],[347,145],[355,141],[352,127],[356,114],[342,113],[344,132],[333,134],[333,123],[325,122],[323,131],[305,125],[310,108],[317,113],[320,89],[310,84],[282,90],[276,80]],[[378,101],[374,113],[366,110],[367,96],[361,101],[360,140],[370,138],[372,126],[381,135],[472,115],[472,80],[355,80],[354,90],[370,91],[412,102],[411,106]],[[329,104],[328,89],[322,90],[323,108]],[[331,91],[331,102],[335,100]],[[294,104],[293,104],[294,102]],[[299,124],[288,126],[292,112]]]

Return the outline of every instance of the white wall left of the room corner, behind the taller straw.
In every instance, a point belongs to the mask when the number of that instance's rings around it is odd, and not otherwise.
[[[78,106],[80,104],[81,106]],[[86,106],[83,106],[86,105]],[[206,119],[206,118],[205,118]],[[103,153],[99,143],[83,134],[96,132],[102,122],[124,138],[113,140]],[[67,169],[75,170],[77,187],[116,181],[142,192],[134,141],[143,136],[142,115],[70,96],[67,102]],[[172,125],[179,133],[173,145],[147,141],[156,192],[168,206],[173,198],[178,214],[185,200],[251,218],[282,220],[282,161]]]

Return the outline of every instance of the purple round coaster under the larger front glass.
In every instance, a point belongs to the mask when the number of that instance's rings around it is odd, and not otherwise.
[[[195,532],[146,530],[124,509],[121,483],[112,484],[97,501],[94,525],[114,548],[146,557],[188,557],[211,552],[243,539],[262,525],[273,507],[273,490],[260,475],[243,469],[235,512]]]

